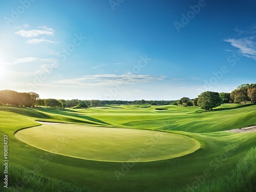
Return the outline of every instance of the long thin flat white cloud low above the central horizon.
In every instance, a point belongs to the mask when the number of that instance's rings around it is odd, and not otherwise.
[[[133,75],[133,74],[103,74],[103,75],[86,75],[75,79],[63,79],[56,81],[61,84],[76,84],[80,86],[103,86],[111,84],[131,84],[131,83],[148,83],[161,80],[177,81],[179,78],[171,78],[158,75]]]

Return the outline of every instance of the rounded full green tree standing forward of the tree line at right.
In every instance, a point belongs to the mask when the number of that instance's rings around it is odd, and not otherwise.
[[[201,109],[204,109],[205,111],[207,111],[207,110],[212,110],[212,108],[216,108],[217,106],[220,106],[221,102],[222,101],[219,93],[206,91],[201,93],[198,96],[197,103]]]

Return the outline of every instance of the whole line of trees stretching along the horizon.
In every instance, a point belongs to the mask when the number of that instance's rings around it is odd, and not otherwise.
[[[34,92],[19,93],[12,90],[0,91],[0,104],[13,106],[48,106],[50,108],[88,108],[89,106],[121,105],[121,104],[151,104],[151,105],[183,105],[199,106],[201,109],[212,110],[221,103],[256,103],[256,83],[242,84],[231,93],[217,93],[206,91],[195,99],[182,97],[179,100],[79,100],[79,99],[40,99]]]

